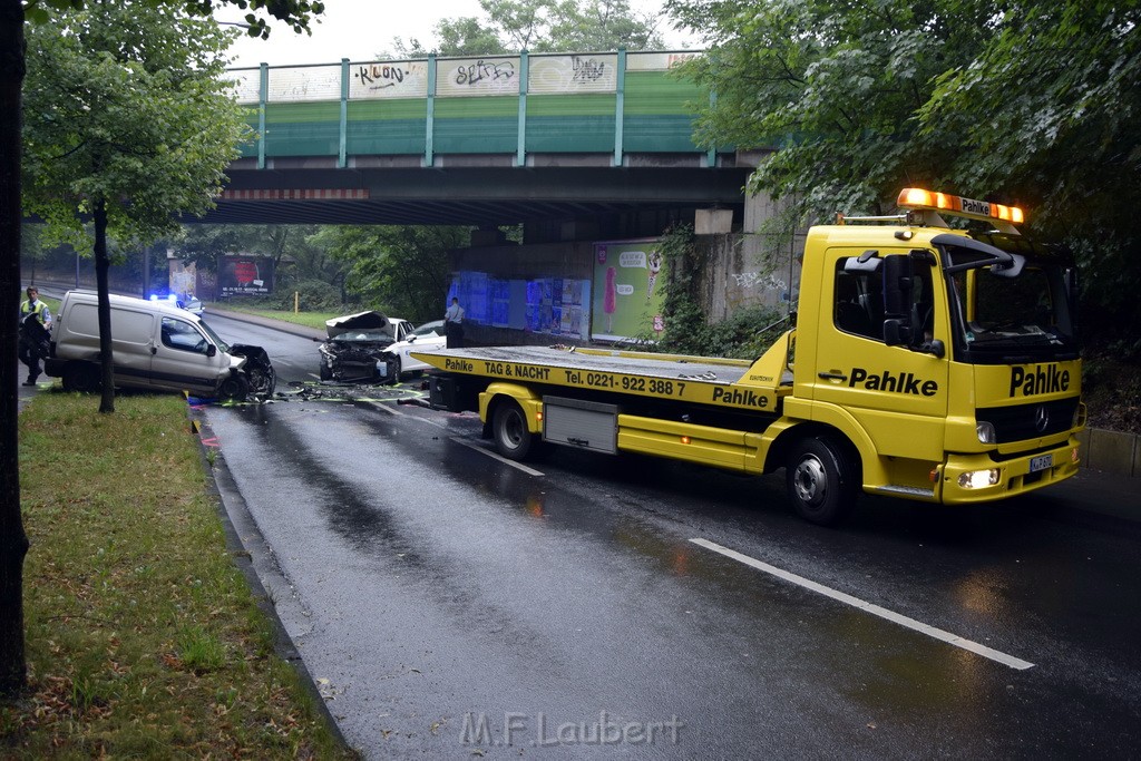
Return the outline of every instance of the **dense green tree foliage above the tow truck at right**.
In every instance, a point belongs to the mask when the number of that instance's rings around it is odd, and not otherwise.
[[[795,224],[885,213],[928,186],[1028,209],[1068,243],[1087,307],[1141,332],[1141,22],[1098,0],[669,0],[709,51],[706,145],[779,148],[752,188]],[[1089,321],[1087,321],[1089,323]]]

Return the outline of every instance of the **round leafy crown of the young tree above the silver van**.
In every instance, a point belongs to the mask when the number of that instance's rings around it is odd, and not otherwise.
[[[248,130],[222,82],[226,41],[211,21],[138,2],[29,29],[24,203],[49,240],[86,240],[100,205],[114,237],[143,243],[211,208]]]

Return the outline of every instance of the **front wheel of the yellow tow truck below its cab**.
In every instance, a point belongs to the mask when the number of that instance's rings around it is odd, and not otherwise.
[[[851,460],[827,437],[802,439],[785,465],[788,499],[804,520],[834,526],[856,505],[856,477]]]

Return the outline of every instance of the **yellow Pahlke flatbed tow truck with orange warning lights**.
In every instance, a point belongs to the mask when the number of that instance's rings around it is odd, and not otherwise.
[[[435,369],[431,405],[477,410],[513,460],[560,444],[785,468],[798,513],[824,525],[860,491],[962,504],[1075,475],[1085,405],[1073,260],[1021,236],[1015,207],[917,188],[898,205],[809,230],[794,326],[755,362],[418,351]]]

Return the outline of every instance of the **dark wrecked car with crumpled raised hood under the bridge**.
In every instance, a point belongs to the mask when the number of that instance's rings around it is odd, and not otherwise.
[[[323,381],[373,383],[383,380],[377,362],[385,349],[412,332],[407,319],[380,311],[359,311],[325,321],[329,338],[318,347]]]

